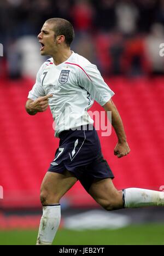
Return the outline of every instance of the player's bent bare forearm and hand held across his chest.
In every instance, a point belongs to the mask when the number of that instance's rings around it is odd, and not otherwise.
[[[49,106],[49,98],[53,95],[46,95],[44,97],[39,97],[37,100],[33,101],[31,99],[26,102],[26,111],[30,115],[35,115],[38,112],[44,112]]]

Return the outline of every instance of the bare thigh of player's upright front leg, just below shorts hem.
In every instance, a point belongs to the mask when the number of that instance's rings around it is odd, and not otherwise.
[[[41,185],[41,194],[55,195],[61,198],[76,182],[77,178],[73,173],[47,172]]]

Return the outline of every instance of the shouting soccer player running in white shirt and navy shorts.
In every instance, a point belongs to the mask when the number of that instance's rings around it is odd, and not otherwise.
[[[55,136],[60,138],[55,159],[41,186],[43,216],[37,245],[51,245],[60,224],[60,199],[78,180],[108,211],[164,205],[163,192],[140,188],[118,191],[114,187],[114,175],[103,159],[87,110],[96,100],[106,112],[112,112],[112,125],[118,137],[114,154],[118,158],[130,153],[124,126],[111,99],[114,92],[95,65],[71,51],[73,38],[74,30],[69,21],[54,18],[45,22],[38,35],[42,45],[40,52],[51,59],[40,67],[26,102],[30,115],[44,112],[50,106],[56,123]]]

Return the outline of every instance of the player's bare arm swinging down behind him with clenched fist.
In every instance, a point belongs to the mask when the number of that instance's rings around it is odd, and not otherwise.
[[[114,130],[118,137],[118,143],[116,144],[116,147],[114,149],[114,154],[117,155],[118,158],[121,158],[122,156],[125,156],[128,153],[130,153],[130,147],[128,146],[126,140],[124,125],[122,123],[118,109],[116,108],[112,100],[104,104],[103,108],[106,111],[112,112],[112,126],[114,127]]]

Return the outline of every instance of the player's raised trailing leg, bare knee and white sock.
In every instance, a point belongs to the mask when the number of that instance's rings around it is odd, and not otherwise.
[[[163,192],[140,188],[118,191],[110,178],[95,179],[91,184],[89,194],[108,211],[121,208],[164,206]]]

